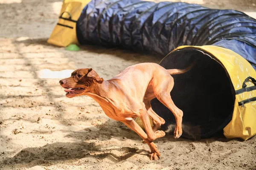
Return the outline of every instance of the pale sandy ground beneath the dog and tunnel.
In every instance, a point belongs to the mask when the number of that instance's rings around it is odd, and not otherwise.
[[[256,17],[256,0],[184,0],[233,8]],[[0,170],[256,170],[256,136],[242,142],[223,136],[200,141],[167,134],[155,143],[162,157],[93,99],[65,97],[58,80],[76,68],[94,68],[104,79],[159,58],[85,46],[70,52],[47,44],[60,0],[0,0]]]

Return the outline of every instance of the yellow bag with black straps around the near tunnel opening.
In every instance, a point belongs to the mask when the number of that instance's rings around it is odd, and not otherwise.
[[[256,135],[256,71],[250,63],[234,51],[214,45],[180,46],[175,50],[186,47],[202,49],[212,54],[230,77],[236,99],[232,120],[224,127],[224,135],[244,140]]]

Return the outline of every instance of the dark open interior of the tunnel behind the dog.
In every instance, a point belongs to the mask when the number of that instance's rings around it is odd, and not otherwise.
[[[211,55],[201,49],[183,48],[160,62],[166,69],[183,69],[197,59],[191,70],[173,75],[171,97],[183,111],[184,138],[204,139],[223,133],[232,119],[235,90],[225,68]],[[151,105],[166,121],[162,128],[172,132],[175,125],[172,112],[157,99],[153,99]]]

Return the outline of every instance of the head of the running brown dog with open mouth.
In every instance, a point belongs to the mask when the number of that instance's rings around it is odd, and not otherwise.
[[[71,77],[59,81],[61,87],[66,88],[66,96],[69,98],[84,95],[93,84],[101,84],[103,78],[92,68],[80,68],[71,74]]]

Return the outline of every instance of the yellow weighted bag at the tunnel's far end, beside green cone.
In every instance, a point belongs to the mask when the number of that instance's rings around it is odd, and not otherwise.
[[[90,0],[64,0],[57,25],[47,40],[49,44],[66,47],[79,44],[76,37],[76,21]]]

